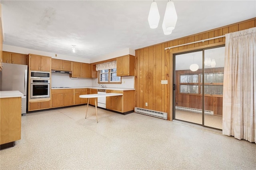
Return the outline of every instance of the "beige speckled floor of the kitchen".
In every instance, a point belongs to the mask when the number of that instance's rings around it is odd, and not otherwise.
[[[0,169],[256,169],[256,144],[137,113],[78,106],[22,116]]]

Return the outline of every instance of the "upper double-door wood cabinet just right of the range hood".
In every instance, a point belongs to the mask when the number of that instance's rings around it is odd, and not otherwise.
[[[84,77],[90,78],[90,64],[87,63],[78,63],[72,62],[73,70],[72,70],[72,77]]]

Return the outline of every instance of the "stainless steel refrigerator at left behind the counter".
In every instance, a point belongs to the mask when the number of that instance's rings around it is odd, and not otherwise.
[[[28,84],[28,66],[21,64],[3,63],[1,71],[1,91],[17,90],[23,93],[21,98],[22,111],[21,114],[26,114],[27,110],[27,84]]]

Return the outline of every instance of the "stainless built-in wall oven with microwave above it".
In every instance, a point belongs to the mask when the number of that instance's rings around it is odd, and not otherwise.
[[[30,71],[30,99],[50,97],[50,72]]]

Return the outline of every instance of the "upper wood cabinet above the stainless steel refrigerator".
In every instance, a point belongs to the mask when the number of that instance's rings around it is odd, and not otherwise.
[[[28,65],[28,55],[3,51],[3,63]]]

